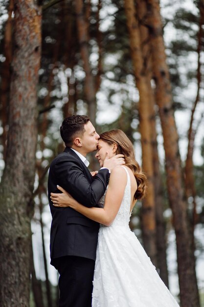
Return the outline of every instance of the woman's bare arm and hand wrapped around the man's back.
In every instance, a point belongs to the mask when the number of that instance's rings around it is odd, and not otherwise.
[[[123,199],[127,175],[122,167],[115,167],[110,176],[104,208],[85,207],[75,201],[62,187],[63,193],[51,193],[53,205],[57,207],[71,207],[93,221],[110,226],[119,210]]]

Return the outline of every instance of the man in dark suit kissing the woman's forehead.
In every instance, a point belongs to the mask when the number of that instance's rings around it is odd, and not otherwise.
[[[91,307],[92,280],[99,224],[70,207],[56,208],[50,193],[63,187],[82,205],[97,205],[109,182],[110,171],[124,163],[122,155],[104,161],[97,175],[88,170],[88,153],[97,149],[99,135],[85,115],[66,118],[60,128],[64,153],[51,163],[48,196],[52,224],[50,230],[51,264],[60,274],[59,307]]]

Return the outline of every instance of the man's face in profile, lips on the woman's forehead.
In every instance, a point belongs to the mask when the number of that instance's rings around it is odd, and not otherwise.
[[[99,135],[96,133],[95,128],[91,124],[91,122],[88,122],[86,125],[84,125],[85,132],[81,137],[81,143],[83,147],[84,153],[91,153],[96,151]]]

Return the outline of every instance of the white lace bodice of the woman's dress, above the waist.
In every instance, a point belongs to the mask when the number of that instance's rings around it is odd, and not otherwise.
[[[124,191],[124,196],[122,199],[122,203],[120,205],[120,208],[117,212],[117,215],[112,223],[111,226],[109,227],[113,227],[113,226],[129,226],[129,222],[130,222],[130,206],[131,206],[131,182],[130,182],[130,175],[128,173],[128,170],[126,169],[126,167],[124,166],[120,166],[122,168],[125,169],[126,174],[127,174],[127,184],[125,187],[125,191]],[[107,186],[108,189],[108,186]],[[107,190],[106,190],[107,191]],[[103,207],[104,203],[105,203],[105,196],[106,196],[106,192],[105,194],[102,196],[102,198],[99,201],[99,206]],[[101,225],[102,227],[105,227],[104,225]]]

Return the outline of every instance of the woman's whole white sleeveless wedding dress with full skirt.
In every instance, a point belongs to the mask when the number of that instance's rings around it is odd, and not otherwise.
[[[131,182],[125,170],[128,180],[119,211],[98,234],[92,307],[179,307],[129,228]]]

